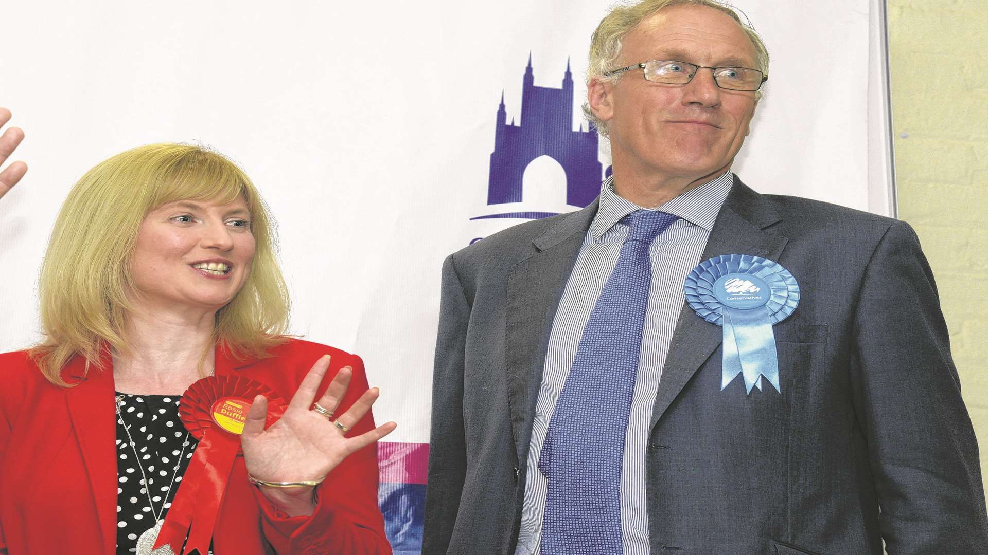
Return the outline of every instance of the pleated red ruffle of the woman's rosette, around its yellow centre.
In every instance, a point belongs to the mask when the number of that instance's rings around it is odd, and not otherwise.
[[[226,399],[239,400],[244,405],[243,414],[246,415],[254,402],[254,397],[258,395],[268,398],[268,421],[264,425],[264,428],[268,429],[282,418],[288,405],[274,389],[243,376],[209,376],[192,384],[182,394],[179,417],[186,430],[199,440],[203,439],[206,430],[210,428],[232,434],[225,428],[217,426],[219,423],[212,416],[213,406]],[[237,444],[237,455],[243,455],[239,441]]]

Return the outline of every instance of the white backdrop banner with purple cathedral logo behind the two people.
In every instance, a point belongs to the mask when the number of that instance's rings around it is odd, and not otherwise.
[[[500,229],[577,209],[609,167],[580,116],[609,0],[20,2],[0,104],[31,170],[0,200],[0,350],[39,338],[37,279],[69,188],[112,154],[202,142],[280,224],[292,330],[381,386],[381,506],[421,542],[440,267]],[[772,54],[734,171],[762,193],[893,211],[880,0],[737,0]],[[524,107],[524,115],[523,115]]]

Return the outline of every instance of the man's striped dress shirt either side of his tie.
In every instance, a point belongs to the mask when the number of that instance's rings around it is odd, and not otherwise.
[[[641,356],[635,376],[631,412],[624,440],[620,480],[621,536],[624,555],[648,555],[648,508],[645,499],[645,453],[652,405],[673,330],[686,297],[683,283],[700,264],[700,255],[713,228],[720,206],[730,192],[733,178],[726,172],[717,179],[673,198],[655,209],[675,214],[675,221],[652,243],[652,284],[642,329]],[[535,405],[532,442],[529,445],[525,505],[516,555],[538,555],[545,510],[546,481],[538,471],[538,454],[545,440],[549,419],[569,374],[590,311],[604,290],[604,283],[617,266],[617,255],[629,227],[618,223],[627,214],[642,209],[614,191],[614,178],[601,187],[600,207],[587,231],[573,272],[559,301],[542,381]]]

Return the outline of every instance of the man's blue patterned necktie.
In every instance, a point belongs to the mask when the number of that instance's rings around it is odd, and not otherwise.
[[[538,455],[548,481],[541,555],[623,551],[620,476],[641,332],[652,284],[652,241],[678,216],[631,212],[617,266],[590,313]]]

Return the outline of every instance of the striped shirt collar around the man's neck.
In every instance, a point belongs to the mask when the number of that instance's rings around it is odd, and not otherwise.
[[[724,204],[733,184],[733,174],[727,171],[717,179],[671,198],[661,206],[645,208],[618,196],[615,193],[615,178],[610,176],[604,180],[604,184],[601,186],[600,206],[597,209],[597,215],[594,216],[594,222],[590,225],[590,232],[595,241],[600,241],[601,237],[614,227],[621,218],[636,210],[646,209],[655,209],[677,215],[710,231],[713,229],[713,222],[717,219],[717,212],[720,211],[720,207]]]

